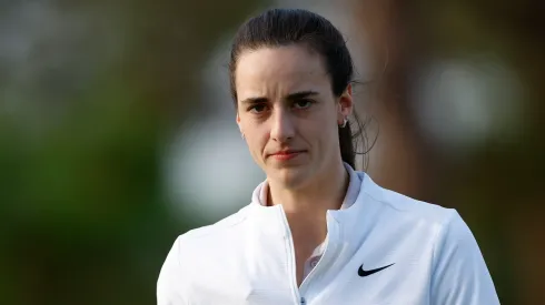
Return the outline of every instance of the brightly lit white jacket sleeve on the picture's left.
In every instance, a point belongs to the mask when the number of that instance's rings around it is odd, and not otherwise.
[[[157,279],[157,305],[188,305],[180,265],[180,237],[172,245]]]

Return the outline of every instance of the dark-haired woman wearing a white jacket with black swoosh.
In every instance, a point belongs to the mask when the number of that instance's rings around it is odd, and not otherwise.
[[[236,121],[267,180],[236,214],[178,237],[158,304],[499,304],[456,211],[354,170],[351,77],[320,16],[275,9],[239,29]]]

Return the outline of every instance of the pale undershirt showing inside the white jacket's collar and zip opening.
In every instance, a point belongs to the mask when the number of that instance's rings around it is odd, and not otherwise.
[[[358,174],[356,171],[354,171],[350,165],[345,163],[345,169],[348,172],[349,176],[349,183],[348,187],[346,190],[346,195],[345,200],[343,201],[343,204],[340,205],[340,210],[346,210],[350,207],[355,202],[356,199],[359,194],[359,186],[361,185],[361,180],[359,180]],[[269,185],[267,181],[262,183],[261,191],[259,192],[259,196],[257,197],[257,202],[262,205],[267,206],[267,193],[268,193]],[[327,245],[327,236],[326,240],[319,244],[310,255],[310,257],[307,258],[305,262],[305,267],[303,270],[303,278],[307,277],[308,274],[314,270],[314,267],[318,264],[318,262],[321,258],[321,255],[324,255],[324,251],[326,250]]]

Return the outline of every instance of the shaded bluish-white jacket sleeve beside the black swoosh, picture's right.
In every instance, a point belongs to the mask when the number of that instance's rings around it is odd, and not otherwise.
[[[430,305],[499,304],[477,242],[457,212],[438,235],[434,250]]]

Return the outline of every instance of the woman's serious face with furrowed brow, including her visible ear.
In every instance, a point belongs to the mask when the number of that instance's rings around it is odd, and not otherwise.
[[[242,52],[236,90],[237,123],[268,180],[295,189],[338,166],[351,88],[334,95],[318,53],[300,45]]]

